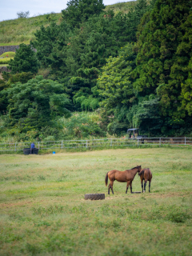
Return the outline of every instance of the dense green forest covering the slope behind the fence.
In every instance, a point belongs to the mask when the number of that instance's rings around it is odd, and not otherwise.
[[[104,10],[102,0],[70,0],[59,25],[20,45],[0,80],[2,137],[192,133],[192,1]]]

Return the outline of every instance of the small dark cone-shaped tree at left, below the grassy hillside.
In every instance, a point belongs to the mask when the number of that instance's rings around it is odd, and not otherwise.
[[[38,59],[31,49],[31,46],[26,46],[24,43],[19,45],[19,49],[16,49],[14,59],[10,59],[10,66],[12,74],[21,72],[31,72],[36,74],[38,72]]]

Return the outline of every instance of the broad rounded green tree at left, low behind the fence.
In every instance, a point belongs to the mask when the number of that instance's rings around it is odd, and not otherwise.
[[[21,132],[51,126],[51,120],[57,115],[70,116],[70,111],[66,109],[70,102],[63,94],[63,86],[52,80],[44,80],[42,76],[25,84],[18,82],[11,85],[2,91],[4,95],[9,102],[6,122]]]

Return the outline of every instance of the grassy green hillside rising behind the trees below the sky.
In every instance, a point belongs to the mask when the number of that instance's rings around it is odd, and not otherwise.
[[[106,6],[106,10],[112,9],[117,14],[119,11],[128,13],[130,8],[136,4],[132,2],[118,2]],[[17,18],[0,22],[0,46],[13,46],[22,42],[28,44],[34,38],[34,32],[40,26],[49,26],[50,22],[60,23],[62,14],[44,14],[31,18]]]

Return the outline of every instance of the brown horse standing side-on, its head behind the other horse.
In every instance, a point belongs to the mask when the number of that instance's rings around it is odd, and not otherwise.
[[[114,181],[118,181],[118,182],[127,182],[126,183],[126,193],[127,190],[130,186],[130,193],[132,193],[132,182],[134,180],[134,176],[140,172],[142,170],[142,166],[136,166],[130,170],[124,170],[124,171],[120,171],[120,170],[110,170],[108,171],[108,173],[106,174],[106,186],[108,184],[108,178],[110,179],[110,185],[108,186],[108,194],[110,194],[110,189],[112,191],[112,193],[114,194],[114,190],[113,190],[113,185],[114,185]]]

